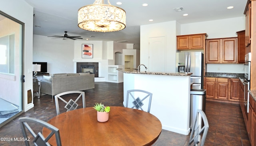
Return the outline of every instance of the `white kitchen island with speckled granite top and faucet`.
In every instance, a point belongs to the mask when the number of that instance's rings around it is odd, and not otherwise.
[[[185,135],[190,133],[192,73],[145,72],[127,68],[117,70],[124,73],[124,106],[127,90],[149,91],[152,93],[150,113],[161,121],[162,128]]]

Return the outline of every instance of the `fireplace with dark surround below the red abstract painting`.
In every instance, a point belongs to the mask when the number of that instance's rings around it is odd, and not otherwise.
[[[98,69],[98,62],[76,62],[76,73],[90,72],[90,74],[94,74],[95,77],[99,77]]]

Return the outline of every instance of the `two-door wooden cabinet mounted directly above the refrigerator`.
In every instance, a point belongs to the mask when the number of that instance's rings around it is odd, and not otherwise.
[[[194,35],[178,35],[177,50],[204,49],[206,33]]]

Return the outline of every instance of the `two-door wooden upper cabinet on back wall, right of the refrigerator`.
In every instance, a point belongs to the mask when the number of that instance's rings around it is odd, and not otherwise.
[[[237,38],[207,39],[206,63],[237,63]]]

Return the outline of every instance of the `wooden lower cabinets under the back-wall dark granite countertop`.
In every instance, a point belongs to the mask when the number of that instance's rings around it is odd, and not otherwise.
[[[239,101],[239,79],[205,78],[206,98]]]

